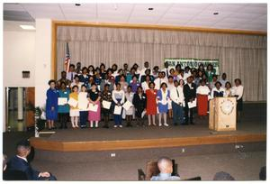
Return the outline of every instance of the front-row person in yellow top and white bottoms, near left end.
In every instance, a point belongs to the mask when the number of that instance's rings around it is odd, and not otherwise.
[[[74,100],[78,101],[78,87],[74,86],[72,87],[72,93],[69,94],[69,100],[73,98]],[[78,128],[78,118],[79,118],[79,109],[78,105],[76,106],[70,106],[69,116],[71,119],[72,128]]]

